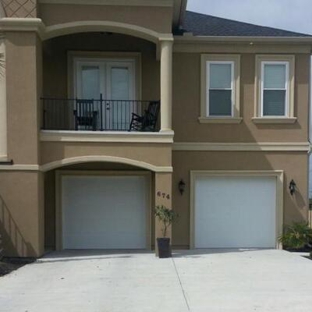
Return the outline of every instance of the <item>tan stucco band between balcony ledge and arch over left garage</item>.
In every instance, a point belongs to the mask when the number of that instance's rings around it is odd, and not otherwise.
[[[171,144],[42,142],[42,165],[72,157],[115,156],[171,166]]]

